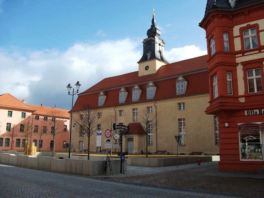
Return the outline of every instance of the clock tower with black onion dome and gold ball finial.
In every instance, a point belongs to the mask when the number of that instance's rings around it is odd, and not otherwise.
[[[155,14],[152,14],[152,25],[147,31],[148,38],[143,40],[143,55],[138,62],[138,76],[155,74],[162,65],[168,64],[163,56],[164,41],[159,37],[161,31],[156,26]]]

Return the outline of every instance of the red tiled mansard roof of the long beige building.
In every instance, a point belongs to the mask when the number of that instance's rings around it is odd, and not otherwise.
[[[131,72],[120,76],[105,78],[96,85],[78,95],[77,101],[73,107],[73,111],[76,111],[83,105],[87,105],[87,103],[89,103],[89,105],[91,106],[98,107],[98,94],[101,90],[110,88],[112,89],[105,91],[107,93],[107,98],[104,105],[100,106],[100,108],[209,93],[208,74],[203,71],[205,69],[208,69],[206,60],[207,56],[205,55],[168,65],[163,65],[156,74],[143,77],[138,77],[138,72]],[[199,70],[200,72],[197,72]],[[182,95],[176,95],[175,81],[178,78],[177,75],[186,73],[191,73],[188,75],[184,75],[184,78],[186,79],[186,81],[188,81],[186,93]],[[157,86],[153,99],[147,99],[146,86],[148,85],[149,81],[154,81],[155,85]],[[139,101],[132,102],[132,89],[135,84],[139,84],[140,82],[144,82],[144,84],[140,84],[140,87],[142,87],[142,92]],[[119,104],[120,87],[126,85],[130,85],[129,87],[126,87],[128,90],[126,101],[125,103]]]

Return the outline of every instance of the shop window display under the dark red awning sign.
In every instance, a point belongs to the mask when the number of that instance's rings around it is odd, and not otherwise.
[[[259,131],[240,131],[241,160],[262,160],[261,139]]]

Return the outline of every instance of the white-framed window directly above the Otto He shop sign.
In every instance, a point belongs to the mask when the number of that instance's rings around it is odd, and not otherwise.
[[[247,70],[248,93],[262,92],[261,70]]]

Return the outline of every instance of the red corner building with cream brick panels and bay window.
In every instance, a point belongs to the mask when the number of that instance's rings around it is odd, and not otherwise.
[[[220,171],[263,166],[264,1],[208,0],[209,107],[219,122]]]

